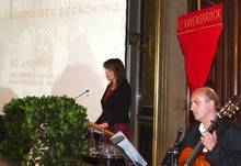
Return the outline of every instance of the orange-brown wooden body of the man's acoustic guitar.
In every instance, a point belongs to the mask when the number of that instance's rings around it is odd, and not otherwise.
[[[193,153],[193,148],[191,147],[185,147],[182,153],[180,154],[179,157],[179,163],[180,166],[184,166],[186,163],[186,159],[191,156]],[[210,163],[206,161],[205,154],[200,153],[198,157],[195,159],[193,166],[210,166]]]

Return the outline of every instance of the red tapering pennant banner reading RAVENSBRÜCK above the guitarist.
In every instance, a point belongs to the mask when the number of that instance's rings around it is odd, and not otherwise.
[[[206,84],[221,30],[222,3],[177,18],[177,37],[191,91]]]

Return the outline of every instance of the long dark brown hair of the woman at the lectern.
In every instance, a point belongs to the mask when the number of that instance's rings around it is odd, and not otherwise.
[[[120,59],[110,58],[104,62],[103,67],[114,71],[117,87],[126,79],[124,64]]]

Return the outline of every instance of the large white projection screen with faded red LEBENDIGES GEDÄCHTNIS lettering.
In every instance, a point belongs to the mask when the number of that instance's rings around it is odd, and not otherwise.
[[[103,63],[125,62],[126,0],[0,1],[0,108],[12,98],[76,98],[94,121]]]

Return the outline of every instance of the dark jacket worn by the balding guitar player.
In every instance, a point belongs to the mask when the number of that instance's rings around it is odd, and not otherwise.
[[[195,147],[200,139],[198,128],[199,123],[187,130],[180,152],[186,146]],[[211,166],[241,166],[241,128],[233,122],[225,121],[220,123],[216,134],[217,144],[207,153],[206,159]]]

